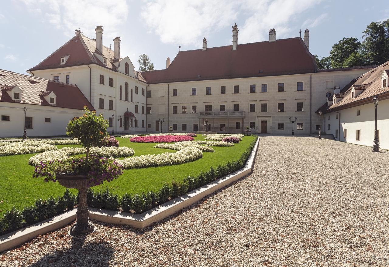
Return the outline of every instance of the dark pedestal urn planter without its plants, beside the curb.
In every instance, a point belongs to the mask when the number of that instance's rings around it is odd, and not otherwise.
[[[75,188],[79,192],[78,208],[77,208],[77,222],[68,231],[70,236],[77,236],[81,234],[89,234],[96,231],[96,226],[89,221],[88,203],[86,201],[86,194],[91,184],[87,175],[56,175],[57,181],[61,186],[67,188]]]

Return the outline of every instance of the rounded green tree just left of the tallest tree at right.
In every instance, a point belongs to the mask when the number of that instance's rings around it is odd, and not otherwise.
[[[332,46],[330,54],[332,68],[344,68],[343,63],[353,53],[358,53],[361,42],[357,38],[343,38]]]

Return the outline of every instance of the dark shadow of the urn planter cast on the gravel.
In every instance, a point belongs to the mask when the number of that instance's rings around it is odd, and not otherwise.
[[[109,266],[114,250],[108,242],[91,242],[83,246],[86,236],[72,238],[72,248],[56,250],[43,256],[30,267],[45,266]]]

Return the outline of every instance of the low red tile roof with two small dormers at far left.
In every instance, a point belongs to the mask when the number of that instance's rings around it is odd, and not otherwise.
[[[13,101],[6,92],[16,86],[22,90],[20,101]],[[53,106],[44,99],[50,92],[56,95],[55,107],[82,110],[87,106],[90,110],[95,110],[76,85],[0,69],[0,102]]]

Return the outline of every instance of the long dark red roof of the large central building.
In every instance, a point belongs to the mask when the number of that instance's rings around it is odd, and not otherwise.
[[[312,73],[315,58],[300,37],[188,50],[177,54],[170,66],[144,71],[148,83],[195,81]]]

